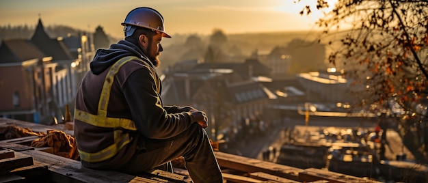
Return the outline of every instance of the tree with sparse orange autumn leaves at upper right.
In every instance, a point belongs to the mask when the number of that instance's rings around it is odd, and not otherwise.
[[[317,0],[317,10],[329,6]],[[308,5],[300,14],[311,12]],[[394,100],[412,110],[410,104],[426,98],[427,1],[338,0],[317,25],[325,34],[345,29],[344,36],[336,40],[340,48],[328,58],[336,66],[346,66],[345,74],[355,76],[371,92],[362,104],[379,111],[388,109]]]

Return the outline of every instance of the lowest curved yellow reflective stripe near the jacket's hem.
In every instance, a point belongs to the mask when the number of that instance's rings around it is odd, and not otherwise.
[[[99,152],[89,153],[89,152],[83,152],[82,150],[79,151],[79,156],[81,160],[85,160],[86,162],[95,163],[100,162],[103,160],[107,160],[108,158],[113,157],[118,153],[119,150],[124,147],[124,145],[131,142],[131,138],[129,138],[128,134],[123,135],[122,137],[120,134],[122,130],[115,130],[114,132],[114,139],[115,142],[111,144],[109,147],[105,148],[104,150],[101,150]]]

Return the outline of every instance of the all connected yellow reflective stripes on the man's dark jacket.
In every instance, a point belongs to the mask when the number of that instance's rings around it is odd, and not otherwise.
[[[75,109],[75,119],[98,127],[137,130],[137,128],[135,128],[134,122],[131,119],[107,117],[107,107],[109,105],[111,86],[113,85],[114,76],[119,72],[120,67],[133,59],[138,58],[133,56],[123,57],[122,59],[116,61],[116,63],[113,64],[113,66],[111,66],[109,69],[107,76],[105,76],[103,90],[101,91],[100,100],[98,102],[97,115]],[[122,135],[122,130],[120,129],[114,130],[113,137],[113,144],[99,152],[91,153],[79,150],[81,160],[91,163],[107,160],[108,158],[116,155],[118,151],[124,147],[124,145],[131,142],[129,135]]]

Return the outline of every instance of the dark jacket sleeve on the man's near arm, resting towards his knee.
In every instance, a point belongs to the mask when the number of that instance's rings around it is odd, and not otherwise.
[[[122,86],[124,97],[142,135],[150,139],[168,139],[187,130],[194,117],[189,112],[168,113],[163,108],[153,74],[148,68],[132,72]]]

